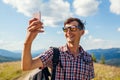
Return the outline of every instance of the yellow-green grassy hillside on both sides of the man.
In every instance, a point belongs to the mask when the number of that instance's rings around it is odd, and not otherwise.
[[[22,72],[19,62],[0,63],[0,80],[23,80],[29,72]],[[120,67],[94,64],[94,80],[120,80]]]

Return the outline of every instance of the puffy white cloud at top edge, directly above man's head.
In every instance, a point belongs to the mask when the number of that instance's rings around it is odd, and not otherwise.
[[[97,12],[100,2],[97,0],[74,0],[75,14],[79,16],[90,16]]]

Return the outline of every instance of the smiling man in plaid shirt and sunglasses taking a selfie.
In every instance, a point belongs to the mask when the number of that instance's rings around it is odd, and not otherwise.
[[[29,21],[27,37],[22,55],[22,69],[31,70],[38,67],[52,67],[53,49],[32,59],[31,45],[38,33],[43,31],[43,23],[37,19]],[[68,18],[63,31],[67,40],[65,46],[59,47],[61,66],[58,64],[55,80],[91,80],[94,78],[94,67],[91,55],[83,50],[80,39],[85,32],[84,24],[78,18]],[[41,40],[42,41],[42,40]],[[41,45],[42,46],[42,45]]]

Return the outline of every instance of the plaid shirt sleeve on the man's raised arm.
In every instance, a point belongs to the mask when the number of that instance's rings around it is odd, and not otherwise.
[[[52,66],[52,57],[53,57],[53,49],[51,48],[40,55],[39,58],[43,63],[43,68]]]

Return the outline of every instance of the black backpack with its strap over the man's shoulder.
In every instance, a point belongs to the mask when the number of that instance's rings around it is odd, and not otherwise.
[[[52,69],[52,74],[50,73],[48,67],[45,67],[44,69],[37,69],[37,71],[35,71],[36,73],[34,75],[30,75],[29,80],[55,80],[55,74],[56,74],[56,66],[59,63],[59,49],[55,48],[55,47],[51,47],[53,49],[53,59],[52,59],[52,63],[53,63],[53,69]],[[60,66],[61,66],[61,62],[60,62]]]

